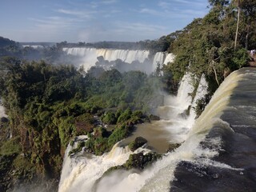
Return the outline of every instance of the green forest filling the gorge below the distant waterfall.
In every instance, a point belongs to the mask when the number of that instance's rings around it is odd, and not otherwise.
[[[84,146],[98,155],[109,151],[135,124],[148,121],[148,103],[156,103],[160,87],[158,77],[139,71],[108,70],[97,77],[89,71],[82,76],[74,66],[17,58],[2,58],[0,69],[0,95],[13,133],[2,153],[22,152],[38,173],[53,178],[60,173],[62,153],[71,138],[90,136],[70,154]],[[106,130],[102,123],[113,129]]]

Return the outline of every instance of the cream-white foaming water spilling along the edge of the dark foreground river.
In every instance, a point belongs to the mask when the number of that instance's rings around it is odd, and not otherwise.
[[[223,129],[230,129],[220,119],[222,111],[225,109],[229,102],[230,94],[237,85],[240,75],[237,73],[231,74],[230,77],[226,78],[225,82],[219,87],[214,94],[206,110],[196,120],[194,126],[190,129],[186,141],[182,143],[178,149],[174,152],[167,154],[166,157],[162,158],[158,162],[155,162],[153,166],[144,170],[140,174],[119,174],[117,183],[112,183],[110,191],[118,191],[124,189],[126,192],[132,191],[170,191],[170,182],[174,179],[174,170],[178,165],[178,162],[188,161],[194,162],[201,166],[215,166],[223,169],[238,170],[232,166],[228,166],[221,162],[214,162],[210,160],[214,156],[218,155],[221,150],[220,138],[210,138],[208,143],[211,143],[212,148],[202,148],[199,143],[206,139],[206,134],[214,124],[223,126]],[[114,175],[110,176],[110,179],[114,179]],[[107,180],[105,183],[107,183]],[[130,186],[130,183],[133,183]]]

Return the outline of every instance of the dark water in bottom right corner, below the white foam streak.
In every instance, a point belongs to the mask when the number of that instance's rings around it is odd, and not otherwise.
[[[180,162],[175,179],[170,182],[172,192],[190,191],[251,191],[256,189],[252,170],[230,170],[216,166],[200,166]],[[254,170],[255,173],[255,170]]]

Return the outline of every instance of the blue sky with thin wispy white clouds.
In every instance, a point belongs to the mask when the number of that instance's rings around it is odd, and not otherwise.
[[[207,0],[0,0],[0,36],[17,42],[137,42],[182,30]]]

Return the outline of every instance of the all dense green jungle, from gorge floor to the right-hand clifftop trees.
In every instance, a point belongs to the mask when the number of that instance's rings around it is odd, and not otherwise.
[[[76,135],[86,134],[89,139],[72,153],[82,147],[94,154],[109,151],[132,132],[134,124],[150,121],[150,109],[162,102],[158,90],[177,90],[186,71],[195,79],[206,74],[213,94],[230,72],[246,66],[247,51],[256,47],[256,1],[209,2],[204,18],[153,41],[60,42],[35,50],[0,38],[0,96],[9,116],[0,121],[0,191],[12,188],[18,179],[58,178],[66,146]],[[176,58],[151,75],[97,67],[82,74],[67,65],[76,58],[62,51],[74,45],[133,46],[152,53],[168,51]],[[11,177],[17,181],[10,182]]]

